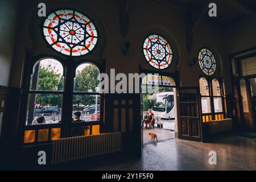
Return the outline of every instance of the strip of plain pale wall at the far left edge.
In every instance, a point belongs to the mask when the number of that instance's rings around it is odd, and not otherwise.
[[[0,1],[0,85],[9,86],[13,60],[18,1]]]

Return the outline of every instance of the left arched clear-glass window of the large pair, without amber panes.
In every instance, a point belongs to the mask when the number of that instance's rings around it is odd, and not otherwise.
[[[61,122],[63,65],[51,58],[37,61],[30,77],[26,125]],[[37,120],[42,115],[45,121]]]

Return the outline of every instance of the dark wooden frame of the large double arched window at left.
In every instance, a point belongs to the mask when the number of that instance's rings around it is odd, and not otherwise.
[[[42,59],[55,59],[63,65],[63,76],[64,76],[64,86],[63,91],[36,91],[30,90],[30,79],[32,75],[32,69],[36,62]],[[77,65],[82,63],[88,63],[95,65],[100,73],[104,72],[105,64],[98,64],[93,60],[82,59],[75,61],[73,57],[61,58],[59,56],[53,55],[39,55],[30,56],[26,55],[26,60],[24,64],[23,80],[22,80],[22,97],[20,99],[20,113],[18,122],[18,143],[20,146],[33,146],[37,144],[49,144],[51,143],[51,131],[52,129],[60,128],[60,138],[72,137],[71,129],[72,127],[84,127],[90,126],[90,134],[92,134],[92,126],[100,125],[100,131],[103,129],[103,113],[104,113],[104,93],[82,93],[82,94],[98,94],[100,95],[100,121],[90,121],[90,122],[72,122],[72,106],[73,106],[73,94],[80,94],[79,92],[73,92],[74,77]],[[54,124],[44,124],[44,125],[27,125],[26,126],[26,113],[27,113],[27,99],[28,95],[31,93],[45,93],[45,94],[63,94],[63,104],[61,112],[61,122]],[[39,130],[48,129],[48,139],[43,142],[38,141]],[[24,143],[24,133],[27,130],[35,130],[35,140],[34,142]]]

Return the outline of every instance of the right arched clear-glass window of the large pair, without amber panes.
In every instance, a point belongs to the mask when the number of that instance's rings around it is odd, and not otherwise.
[[[73,88],[73,113],[81,113],[74,122],[100,121],[100,71],[96,65],[82,63],[76,68]]]

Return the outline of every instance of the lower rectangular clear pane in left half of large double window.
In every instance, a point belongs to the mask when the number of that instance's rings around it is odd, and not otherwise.
[[[61,122],[62,94],[28,94],[26,125]]]

